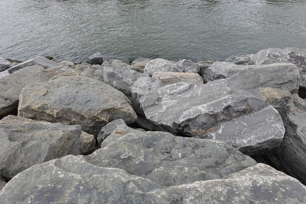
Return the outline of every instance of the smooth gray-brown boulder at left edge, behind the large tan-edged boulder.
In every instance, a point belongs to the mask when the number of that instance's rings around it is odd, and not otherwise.
[[[47,80],[47,73],[40,65],[25,67],[0,78],[0,119],[17,111],[23,87]]]

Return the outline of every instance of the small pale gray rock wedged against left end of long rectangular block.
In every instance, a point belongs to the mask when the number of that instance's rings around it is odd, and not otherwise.
[[[214,64],[212,64],[210,67],[205,69],[205,71],[203,73],[203,77],[205,79],[205,82],[227,78],[225,68],[228,65],[235,65],[235,64],[230,63],[230,62],[217,61]]]

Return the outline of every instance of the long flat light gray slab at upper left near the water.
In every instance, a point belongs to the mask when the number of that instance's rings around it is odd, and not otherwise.
[[[46,57],[38,56],[38,57],[34,57],[33,59],[21,62],[20,64],[13,66],[7,69],[6,71],[11,74],[13,72],[16,72],[19,69],[22,69],[28,66],[33,66],[33,65],[40,65],[40,66],[43,66],[44,69],[48,69],[58,64],[54,61],[47,59]]]

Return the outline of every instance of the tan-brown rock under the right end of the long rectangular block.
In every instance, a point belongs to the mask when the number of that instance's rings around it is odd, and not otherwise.
[[[272,105],[281,115],[282,119],[285,120],[285,107],[291,93],[289,91],[269,87],[259,87],[259,90],[263,95],[263,101],[266,104]]]

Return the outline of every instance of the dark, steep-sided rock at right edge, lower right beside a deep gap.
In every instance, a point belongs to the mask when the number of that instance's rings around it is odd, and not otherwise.
[[[306,101],[293,94],[286,106],[281,160],[285,170],[306,184]]]

